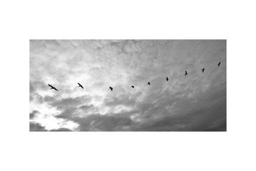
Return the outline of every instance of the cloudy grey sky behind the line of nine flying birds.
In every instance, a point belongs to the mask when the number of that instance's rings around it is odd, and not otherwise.
[[[30,131],[226,131],[226,40],[30,40],[29,84]]]

